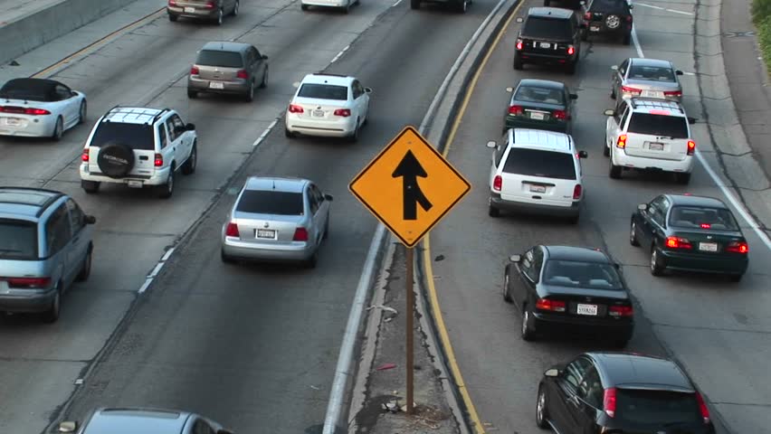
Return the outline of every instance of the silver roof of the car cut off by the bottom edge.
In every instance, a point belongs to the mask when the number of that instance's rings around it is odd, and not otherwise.
[[[94,411],[83,434],[180,434],[191,413],[142,408],[102,408]]]

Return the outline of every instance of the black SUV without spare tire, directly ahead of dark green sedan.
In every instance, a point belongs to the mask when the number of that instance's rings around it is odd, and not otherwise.
[[[582,24],[575,11],[558,7],[531,7],[517,36],[514,69],[525,63],[565,66],[569,74],[576,72],[581,49]]]

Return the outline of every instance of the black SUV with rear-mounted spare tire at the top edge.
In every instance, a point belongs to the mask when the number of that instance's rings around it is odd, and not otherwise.
[[[585,7],[584,41],[590,34],[607,34],[624,45],[632,42],[632,5],[627,0],[588,0]]]

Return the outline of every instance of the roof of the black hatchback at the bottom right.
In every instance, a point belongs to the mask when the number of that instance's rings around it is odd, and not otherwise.
[[[695,392],[680,367],[669,359],[647,354],[587,353],[597,366],[604,386],[654,388]]]

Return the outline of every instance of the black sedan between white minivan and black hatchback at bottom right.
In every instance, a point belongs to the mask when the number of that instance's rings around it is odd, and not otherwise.
[[[506,266],[503,299],[521,314],[521,335],[602,335],[623,346],[634,321],[618,266],[600,250],[535,246]]]

